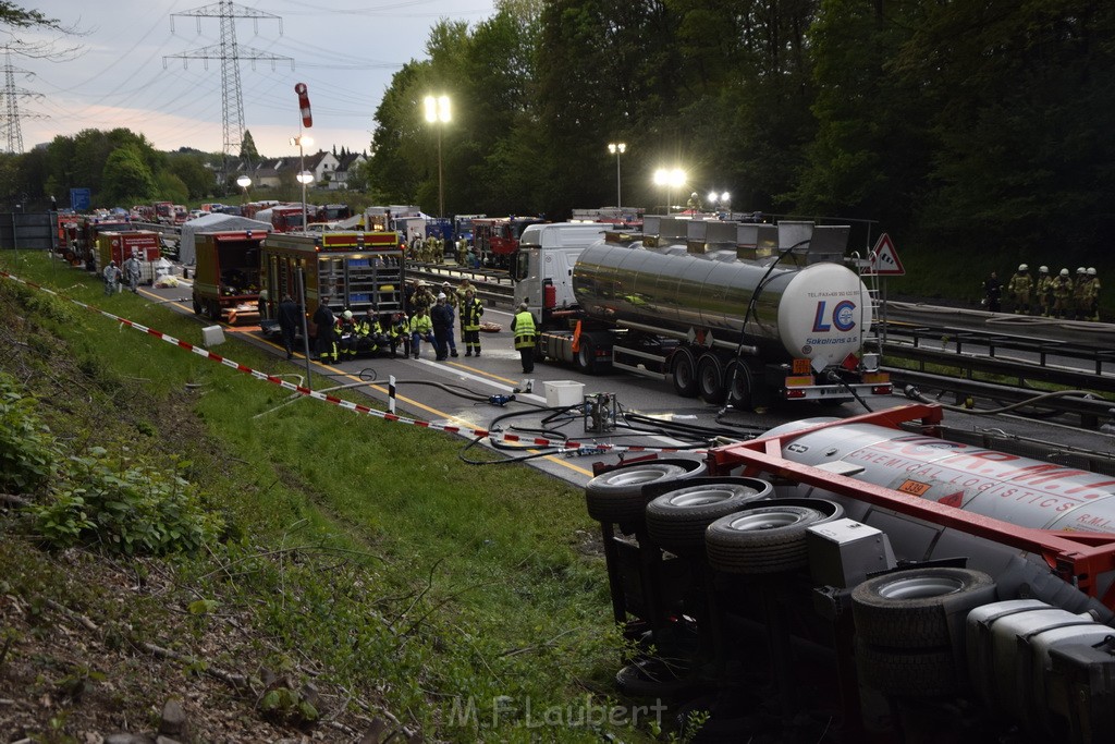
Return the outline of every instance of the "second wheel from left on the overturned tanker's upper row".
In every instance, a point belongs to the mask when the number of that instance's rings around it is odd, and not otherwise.
[[[647,504],[647,532],[659,547],[672,552],[705,549],[705,530],[747,502],[770,493],[766,481],[682,485]]]

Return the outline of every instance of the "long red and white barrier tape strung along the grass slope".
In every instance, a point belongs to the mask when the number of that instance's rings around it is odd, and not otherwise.
[[[506,444],[517,444],[517,445],[524,445],[526,447],[542,447],[542,448],[555,447],[555,448],[563,450],[565,452],[575,452],[576,450],[580,450],[580,448],[591,450],[593,453],[601,453],[601,454],[611,454],[611,453],[620,453],[620,452],[681,452],[681,450],[679,450],[679,448],[670,448],[670,447],[641,447],[641,446],[632,446],[632,445],[600,444],[600,443],[594,443],[594,442],[584,442],[584,443],[582,443],[582,442],[565,442],[565,441],[555,442],[553,439],[547,439],[547,438],[544,438],[544,437],[524,437],[524,436],[517,436],[515,434],[507,434],[505,432],[489,432],[488,429],[483,429],[483,428],[471,428],[471,427],[467,427],[467,426],[453,426],[453,425],[449,425],[449,424],[438,424],[436,422],[423,421],[420,418],[407,418],[406,416],[398,416],[398,415],[396,415],[394,413],[386,413],[386,412],[382,412],[382,410],[376,410],[375,408],[369,408],[368,406],[360,405],[359,403],[352,403],[350,400],[343,400],[343,399],[338,398],[338,397],[332,396],[332,395],[327,395],[324,393],[318,393],[316,390],[311,390],[308,387],[302,387],[301,385],[294,385],[293,383],[288,383],[287,380],[284,380],[284,379],[282,379],[280,377],[275,377],[274,375],[269,375],[269,374],[262,373],[262,371],[260,371],[258,369],[252,369],[251,367],[245,367],[244,365],[242,365],[240,363],[236,363],[236,361],[233,361],[232,359],[223,357],[223,356],[221,356],[219,354],[213,354],[209,349],[205,349],[205,348],[202,348],[202,347],[198,347],[198,346],[194,346],[193,344],[180,340],[180,339],[174,338],[173,336],[168,336],[168,335],[166,335],[166,334],[164,334],[162,331],[155,330],[153,328],[148,328],[147,326],[143,326],[143,325],[137,323],[137,322],[135,322],[133,320],[128,320],[127,318],[122,318],[119,316],[113,315],[112,312],[108,312],[107,310],[101,310],[100,308],[97,308],[97,307],[95,307],[93,305],[88,305],[87,302],[81,302],[80,300],[76,300],[76,299],[74,299],[71,297],[66,297],[61,292],[55,291],[55,290],[52,290],[52,289],[50,289],[48,287],[43,287],[41,284],[36,284],[35,282],[28,281],[26,279],[20,279],[19,277],[17,277],[14,274],[8,273],[7,271],[0,270],[0,277],[2,277],[4,279],[10,279],[10,280],[19,282],[21,284],[26,284],[28,287],[31,287],[33,289],[39,290],[40,292],[46,292],[47,294],[52,294],[52,296],[57,297],[60,300],[64,300],[64,301],[67,301],[67,302],[72,302],[74,305],[76,305],[76,306],[78,306],[80,308],[84,308],[86,310],[89,310],[90,312],[95,312],[97,315],[104,316],[104,317],[108,318],[109,320],[115,320],[118,323],[127,326],[128,328],[132,328],[134,330],[138,330],[138,331],[142,331],[144,334],[147,334],[148,336],[154,336],[155,338],[157,338],[159,340],[163,340],[163,341],[166,341],[167,344],[171,344],[172,346],[176,346],[176,347],[178,347],[181,349],[185,349],[186,351],[191,351],[193,354],[196,354],[197,356],[204,357],[204,358],[206,358],[206,359],[209,359],[211,361],[215,361],[217,364],[222,364],[225,367],[230,367],[231,369],[235,369],[239,373],[243,373],[245,375],[251,375],[255,379],[263,380],[263,381],[266,381],[266,383],[271,383],[273,385],[278,385],[279,387],[288,389],[288,390],[290,390],[292,393],[298,393],[299,395],[304,395],[307,397],[314,398],[317,400],[322,400],[324,403],[331,403],[334,406],[339,406],[341,408],[347,408],[348,410],[353,410],[353,412],[356,412],[358,414],[367,414],[369,416],[376,416],[378,418],[382,418],[384,421],[396,422],[396,423],[399,423],[399,424],[409,424],[411,426],[420,426],[420,427],[424,427],[424,428],[435,429],[435,431],[438,431],[438,432],[447,432],[449,434],[462,434],[462,435],[473,436],[473,437],[477,437],[477,438],[488,438],[488,439],[492,439],[493,442],[503,442],[503,443],[506,443]],[[691,453],[697,454],[700,451],[687,450],[686,452],[691,452]]]

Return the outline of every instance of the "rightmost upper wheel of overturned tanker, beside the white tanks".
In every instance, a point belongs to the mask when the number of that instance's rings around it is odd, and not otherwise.
[[[982,571],[927,567],[867,579],[852,590],[855,632],[876,649],[943,649],[963,638],[969,610],[993,602]]]

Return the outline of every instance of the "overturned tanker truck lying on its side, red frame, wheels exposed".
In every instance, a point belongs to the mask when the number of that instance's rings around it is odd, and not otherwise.
[[[600,466],[620,688],[699,713],[690,741],[1115,742],[1115,462],[941,423]]]

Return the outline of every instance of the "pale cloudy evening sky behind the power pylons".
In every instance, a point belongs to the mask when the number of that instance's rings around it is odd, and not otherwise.
[[[304,132],[313,138],[308,152],[333,146],[368,152],[376,108],[391,76],[410,60],[428,58],[429,30],[442,19],[473,27],[495,12],[494,0],[49,0],[41,6],[17,0],[17,4],[78,31],[58,39],[56,48],[76,48],[62,59],[12,54],[10,61],[3,61],[18,93],[25,152],[57,135],[116,127],[145,135],[159,151],[221,152],[217,15],[223,6],[254,17],[235,20],[235,39],[244,126],[266,157],[298,152],[290,144],[302,120],[294,93],[298,83],[308,88],[313,115],[312,127]],[[20,31],[17,38],[41,36]],[[205,47],[214,52],[207,61],[182,58]],[[271,61],[272,57],[280,59]],[[0,149],[7,143],[4,135]]]

